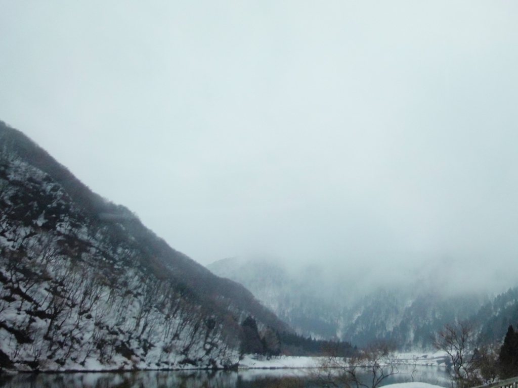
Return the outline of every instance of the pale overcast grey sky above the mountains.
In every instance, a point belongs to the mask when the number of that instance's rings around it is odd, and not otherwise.
[[[5,0],[0,120],[203,264],[501,270],[517,21],[515,1]]]

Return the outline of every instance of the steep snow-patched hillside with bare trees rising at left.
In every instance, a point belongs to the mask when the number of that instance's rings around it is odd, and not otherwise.
[[[290,330],[0,122],[0,370],[221,368]]]

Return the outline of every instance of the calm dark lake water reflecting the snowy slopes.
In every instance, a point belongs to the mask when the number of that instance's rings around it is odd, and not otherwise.
[[[449,386],[444,368],[419,366],[412,369],[400,367],[400,373],[387,378],[383,384],[413,379]],[[299,378],[307,386],[312,386],[307,369],[249,369],[239,372],[193,370],[0,375],[0,388],[266,388],[279,386],[276,381],[282,378]]]

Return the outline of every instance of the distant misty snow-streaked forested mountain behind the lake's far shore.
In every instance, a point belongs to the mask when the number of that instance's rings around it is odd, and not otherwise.
[[[445,323],[468,319],[487,301],[484,295],[452,296],[417,282],[359,291],[336,281],[341,276],[315,268],[287,271],[265,260],[223,259],[208,268],[242,283],[298,333],[358,346],[384,338],[401,349],[429,347],[431,334]]]

